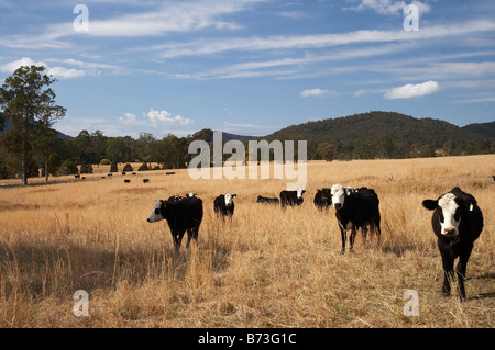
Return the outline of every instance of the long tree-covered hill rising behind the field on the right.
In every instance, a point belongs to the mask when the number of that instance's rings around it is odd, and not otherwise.
[[[369,112],[292,125],[265,139],[308,140],[309,159],[408,158],[495,151],[485,125],[459,127],[395,112]]]

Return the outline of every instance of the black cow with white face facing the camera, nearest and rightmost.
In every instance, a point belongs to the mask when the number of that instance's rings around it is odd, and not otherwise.
[[[483,214],[476,200],[459,187],[438,200],[425,200],[422,205],[433,212],[431,225],[438,238],[438,248],[443,264],[442,295],[450,295],[450,279],[454,278],[453,264],[459,257],[455,273],[458,275],[458,293],[465,300],[465,269],[474,241],[483,229]]]

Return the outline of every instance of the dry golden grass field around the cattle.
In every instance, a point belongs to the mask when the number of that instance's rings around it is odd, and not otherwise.
[[[495,155],[310,162],[304,205],[285,212],[255,203],[278,196],[284,180],[195,181],[187,170],[0,188],[0,327],[494,327],[492,174]],[[341,255],[334,210],[312,204],[334,183],[376,190],[380,247],[359,234],[355,253]],[[431,212],[421,206],[454,185],[485,219],[464,303],[440,296]],[[146,218],[157,199],[189,192],[205,217],[198,244],[175,255],[166,222]],[[223,224],[212,202],[226,192],[238,197]],[[89,316],[73,313],[77,290],[89,293]],[[418,292],[419,316],[404,315],[407,290]]]

